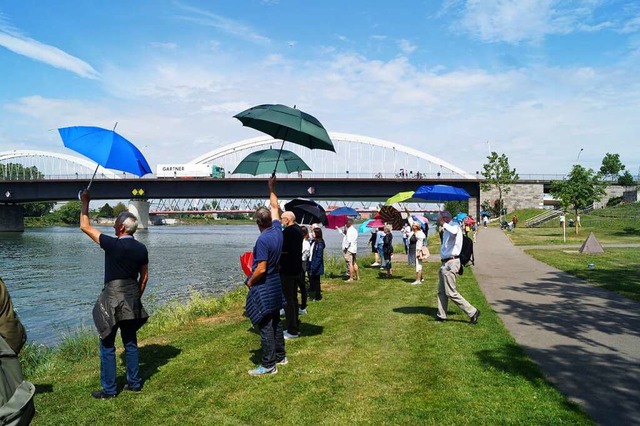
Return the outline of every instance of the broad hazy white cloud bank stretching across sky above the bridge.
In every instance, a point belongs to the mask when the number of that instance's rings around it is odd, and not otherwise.
[[[611,146],[628,166],[640,164],[640,87],[631,67],[425,70],[406,57],[380,61],[353,54],[315,62],[208,55],[140,63],[139,69],[105,70],[112,97],[24,98],[5,106],[0,128],[37,123],[30,147],[51,149],[59,148],[55,138],[38,146],[46,129],[118,121],[124,135],[150,147],[152,164],[186,162],[259,136],[232,118],[237,112],[283,103],[314,114],[330,131],[402,143],[472,173],[485,160],[487,140],[525,174],[564,173],[582,146],[588,167],[599,167]]]

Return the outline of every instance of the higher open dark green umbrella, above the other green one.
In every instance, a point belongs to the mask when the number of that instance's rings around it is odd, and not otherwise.
[[[329,134],[314,116],[280,104],[265,104],[249,108],[234,115],[243,126],[252,127],[273,137],[310,149],[336,152]],[[278,161],[276,160],[276,163]],[[275,174],[275,170],[273,172]]]

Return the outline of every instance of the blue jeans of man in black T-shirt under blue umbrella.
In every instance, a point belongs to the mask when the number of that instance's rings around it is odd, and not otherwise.
[[[135,320],[120,321],[113,327],[111,334],[100,340],[100,384],[102,391],[111,395],[118,393],[115,346],[118,328],[120,328],[120,337],[122,337],[127,363],[127,383],[132,388],[142,386],[138,367],[138,339],[136,337],[138,324]]]

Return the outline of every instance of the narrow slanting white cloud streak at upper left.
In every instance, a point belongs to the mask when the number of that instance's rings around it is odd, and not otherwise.
[[[3,21],[0,21],[0,46],[47,65],[71,71],[80,77],[99,78],[98,72],[85,61],[57,47],[20,35],[15,29],[3,25]]]

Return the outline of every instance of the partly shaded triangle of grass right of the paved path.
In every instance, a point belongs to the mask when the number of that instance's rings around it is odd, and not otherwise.
[[[603,254],[582,254],[567,250],[527,250],[534,258],[571,275],[640,301],[640,251],[610,248]],[[588,265],[594,268],[589,269]]]

